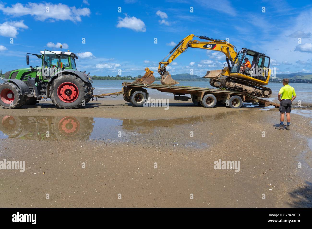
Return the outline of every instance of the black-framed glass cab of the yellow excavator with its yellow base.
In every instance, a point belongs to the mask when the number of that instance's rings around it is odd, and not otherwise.
[[[243,68],[245,59],[250,62],[250,67]],[[248,63],[249,64],[249,63]],[[251,79],[257,83],[266,83],[269,78],[270,57],[254,50],[242,48],[236,55],[232,64],[231,76]]]

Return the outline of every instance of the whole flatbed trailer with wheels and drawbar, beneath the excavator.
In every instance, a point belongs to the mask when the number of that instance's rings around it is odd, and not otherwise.
[[[132,103],[134,106],[143,106],[145,98],[149,98],[149,93],[146,88],[156,89],[160,92],[173,93],[175,100],[192,101],[194,105],[201,105],[203,107],[214,107],[217,103],[224,103],[231,108],[240,108],[243,102],[259,104],[259,106],[267,107],[273,105],[275,108],[279,107],[278,103],[270,102],[265,99],[257,98],[251,94],[214,88],[198,88],[185,87],[162,84],[145,84],[137,82],[122,83],[122,91],[115,93],[106,93],[93,96],[94,98],[103,98],[104,96],[112,96],[122,94],[125,101]],[[190,94],[191,97],[185,96]]]

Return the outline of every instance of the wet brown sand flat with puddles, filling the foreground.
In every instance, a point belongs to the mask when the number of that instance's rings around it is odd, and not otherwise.
[[[0,170],[0,207],[311,207],[311,119],[291,118],[279,131],[278,109],[117,98],[0,109],[0,160],[26,167]]]

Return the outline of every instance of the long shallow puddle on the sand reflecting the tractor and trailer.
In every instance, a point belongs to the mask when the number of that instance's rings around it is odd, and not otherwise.
[[[153,141],[163,146],[209,148],[203,136],[189,139],[189,131],[201,122],[226,119],[242,110],[175,119],[113,119],[93,117],[4,116],[0,117],[0,138],[22,140],[102,140],[142,144]],[[178,128],[175,128],[178,127]],[[180,128],[179,128],[180,127]],[[183,127],[183,128],[181,128]],[[195,127],[196,128],[196,127]],[[159,139],[165,135],[165,139]]]

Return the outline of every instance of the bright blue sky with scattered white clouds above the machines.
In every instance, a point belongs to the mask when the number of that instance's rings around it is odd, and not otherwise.
[[[229,38],[237,50],[266,53],[277,73],[312,72],[312,1],[4,0],[0,16],[3,72],[26,67],[27,52],[59,50],[61,43],[78,53],[77,68],[91,75],[115,76],[118,69],[122,76],[143,75],[145,67],[157,71],[158,62],[189,34]],[[30,59],[30,65],[40,64]],[[203,76],[224,62],[219,52],[189,48],[167,69]]]

